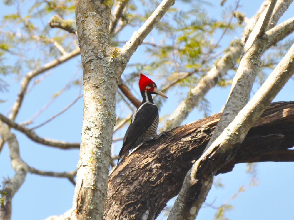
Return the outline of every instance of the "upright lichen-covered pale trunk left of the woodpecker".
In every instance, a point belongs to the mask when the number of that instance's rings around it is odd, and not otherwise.
[[[102,219],[115,124],[116,48],[109,34],[110,9],[101,1],[76,2],[84,83],[81,149],[71,219]]]

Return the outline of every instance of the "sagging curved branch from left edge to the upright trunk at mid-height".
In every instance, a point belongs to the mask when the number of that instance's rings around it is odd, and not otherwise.
[[[30,129],[21,126],[17,123],[15,123],[14,121],[6,118],[4,115],[0,114],[0,119],[6,123],[9,127],[14,128],[18,131],[21,131],[22,133],[24,133],[28,138],[30,138],[31,140],[43,144],[43,145],[47,145],[47,146],[51,146],[51,147],[56,147],[56,148],[60,148],[60,149],[72,149],[72,148],[80,148],[80,143],[68,143],[65,141],[56,141],[56,140],[52,140],[49,138],[41,138],[39,137],[34,131],[31,131]]]

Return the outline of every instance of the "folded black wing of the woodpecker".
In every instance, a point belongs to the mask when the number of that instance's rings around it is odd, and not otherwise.
[[[144,106],[140,107],[135,113],[136,115],[126,131],[123,138],[123,147],[119,152],[118,158],[129,150],[131,144],[152,125],[158,115],[157,106],[153,103],[146,103]]]

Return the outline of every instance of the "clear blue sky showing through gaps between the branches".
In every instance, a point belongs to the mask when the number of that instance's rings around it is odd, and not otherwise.
[[[219,9],[219,1],[210,1],[212,5],[207,5],[206,9],[213,18],[220,18],[221,10]],[[228,1],[233,4],[235,1]],[[240,1],[243,11],[248,17],[255,14],[262,1]],[[176,4],[181,4],[176,1]],[[213,6],[213,4],[216,4]],[[3,16],[7,10],[6,7],[0,5],[2,9],[0,15]],[[181,7],[185,7],[182,4]],[[6,10],[7,9],[7,10]],[[292,13],[291,13],[292,12]],[[293,16],[293,5],[285,13],[283,20]],[[282,21],[283,21],[282,20]],[[123,33],[122,37],[127,40],[131,33]],[[235,32],[233,36],[224,38],[221,45],[225,47],[234,37],[240,37],[240,32]],[[217,37],[216,37],[217,39]],[[136,51],[130,62],[136,62],[136,59],[144,58],[140,48]],[[73,72],[78,69],[80,57],[76,57],[54,70],[50,71],[50,75],[46,80],[37,84],[34,89],[27,94],[21,111],[16,119],[20,123],[30,118],[38,109],[51,99],[52,93],[59,91],[66,82],[71,79]],[[62,73],[62,74],[61,74]],[[148,75],[148,72],[145,72]],[[8,79],[8,78],[5,78]],[[152,78],[151,78],[152,79]],[[9,79],[10,80],[10,79]],[[8,80],[7,80],[8,81]],[[2,114],[11,108],[16,94],[20,88],[20,80],[16,77],[10,83],[9,92],[2,94],[1,99],[7,99],[5,103],[0,104]],[[157,83],[158,87],[160,85]],[[292,101],[294,96],[294,81],[291,79],[283,90],[277,95],[274,101]],[[214,88],[207,95],[211,103],[211,113],[217,113],[224,106],[230,88]],[[254,88],[253,90],[257,90]],[[47,111],[42,113],[36,119],[36,124],[48,119],[59,109],[63,109],[70,101],[73,101],[78,94],[78,87],[72,88],[65,92],[61,97],[56,99],[54,105],[49,107]],[[138,94],[138,93],[137,93]],[[169,99],[161,108],[161,115],[170,114],[180,100],[173,99],[176,96],[173,92],[166,94]],[[2,97],[3,96],[3,97]],[[59,108],[56,108],[59,106]],[[37,133],[42,137],[58,139],[63,141],[79,142],[81,138],[82,111],[83,102],[80,99],[66,114],[59,116],[57,119],[48,123],[48,125],[37,129]],[[197,109],[193,110],[189,117],[183,122],[189,123],[203,117],[203,112]],[[22,159],[30,166],[40,170],[48,171],[71,171],[76,169],[78,161],[78,150],[59,150],[36,144],[30,141],[23,134],[14,131],[20,143],[20,153]],[[121,132],[123,136],[123,131]],[[119,145],[119,143],[118,143]],[[119,149],[118,149],[119,150]],[[0,177],[13,177],[14,171],[10,167],[9,151],[7,145],[4,146],[0,153]],[[213,187],[208,194],[206,203],[218,207],[228,201],[241,186],[246,188],[246,192],[240,193],[238,197],[230,201],[233,210],[227,212],[228,219],[293,219],[294,209],[292,208],[292,197],[294,189],[294,175],[292,175],[294,163],[259,163],[257,165],[258,185],[248,187],[250,175],[245,173],[246,165],[236,165],[234,170],[227,174],[218,175],[223,188]],[[2,181],[1,181],[2,182]],[[71,207],[74,194],[74,186],[66,179],[53,177],[40,177],[28,174],[26,181],[21,186],[13,199],[12,220],[18,219],[44,219],[51,215],[59,215],[64,213]],[[198,215],[198,219],[213,219],[216,212],[211,207],[203,207]],[[158,219],[161,219],[160,216]],[[164,218],[164,217],[163,217]]]

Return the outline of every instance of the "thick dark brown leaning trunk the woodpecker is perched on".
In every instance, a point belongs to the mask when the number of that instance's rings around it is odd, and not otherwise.
[[[220,114],[173,129],[124,160],[110,175],[104,219],[155,219],[176,196],[192,163],[202,154]],[[273,103],[250,129],[229,164],[294,161],[294,102]]]

